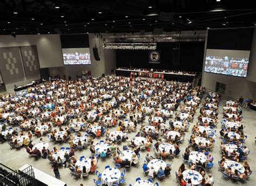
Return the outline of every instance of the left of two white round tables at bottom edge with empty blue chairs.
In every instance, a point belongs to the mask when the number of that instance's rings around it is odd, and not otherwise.
[[[107,168],[102,173],[102,183],[111,186],[114,182],[119,183],[121,172],[117,168]]]

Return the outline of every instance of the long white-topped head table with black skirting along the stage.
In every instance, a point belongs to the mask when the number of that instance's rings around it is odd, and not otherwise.
[[[131,72],[147,72],[147,71],[136,71],[136,70],[121,70],[121,69],[116,69],[116,75],[117,76],[124,76],[124,77],[130,77]],[[151,73],[151,72],[149,72]],[[193,82],[194,79],[194,74],[174,74],[174,73],[163,73],[163,72],[153,72],[153,73],[161,73],[164,74],[164,79],[171,81],[171,80],[176,80],[180,82]]]

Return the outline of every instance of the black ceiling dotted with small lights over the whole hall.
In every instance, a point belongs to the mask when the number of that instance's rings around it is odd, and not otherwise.
[[[248,27],[256,23],[253,3],[238,0],[0,0],[0,35]],[[163,21],[159,18],[161,12],[173,12],[173,18]]]

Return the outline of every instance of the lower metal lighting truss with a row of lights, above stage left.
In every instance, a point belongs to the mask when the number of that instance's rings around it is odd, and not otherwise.
[[[156,43],[103,43],[104,49],[156,50]]]

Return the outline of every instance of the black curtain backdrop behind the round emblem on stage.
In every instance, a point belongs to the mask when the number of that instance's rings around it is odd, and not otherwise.
[[[201,72],[204,60],[205,42],[180,42],[179,65],[172,61],[172,49],[176,43],[157,43],[161,51],[159,64],[149,63],[148,50],[116,50],[117,67],[153,68],[159,70]]]

